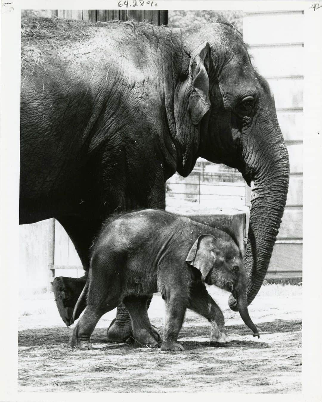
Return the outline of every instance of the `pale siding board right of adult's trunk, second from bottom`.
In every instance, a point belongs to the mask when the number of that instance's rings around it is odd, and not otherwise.
[[[278,239],[301,239],[303,236],[302,208],[285,208]]]

